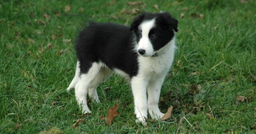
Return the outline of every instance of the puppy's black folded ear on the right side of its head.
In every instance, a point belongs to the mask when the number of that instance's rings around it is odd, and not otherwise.
[[[168,12],[160,13],[160,17],[158,18],[162,26],[167,28],[168,30],[174,30],[178,32],[178,20],[172,18],[172,16]]]

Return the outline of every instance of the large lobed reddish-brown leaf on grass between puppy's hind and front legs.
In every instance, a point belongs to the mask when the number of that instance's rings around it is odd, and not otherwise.
[[[114,118],[119,115],[119,113],[117,112],[117,109],[119,106],[120,106],[120,103],[114,106],[113,108],[108,109],[108,116],[107,117],[100,116],[100,118],[104,119],[106,121],[106,124],[110,126]]]

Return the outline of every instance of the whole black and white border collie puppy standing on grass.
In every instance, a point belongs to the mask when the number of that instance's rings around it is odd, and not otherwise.
[[[67,90],[75,88],[78,104],[90,113],[87,94],[100,102],[97,86],[117,72],[130,78],[137,121],[146,124],[148,112],[161,118],[158,101],[174,59],[177,27],[167,12],[142,13],[130,27],[90,22],[76,40],[76,73]]]

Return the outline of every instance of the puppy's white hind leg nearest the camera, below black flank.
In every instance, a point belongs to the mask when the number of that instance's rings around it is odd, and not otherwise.
[[[75,87],[75,95],[76,100],[80,106],[82,106],[82,110],[84,114],[91,113],[90,109],[87,105],[87,94],[88,89],[90,88],[93,80],[97,76],[100,71],[100,64],[94,62],[87,73],[82,73],[80,75],[80,79]]]

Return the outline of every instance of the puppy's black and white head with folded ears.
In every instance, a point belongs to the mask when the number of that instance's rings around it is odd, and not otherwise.
[[[130,30],[135,32],[138,53],[142,56],[153,56],[178,32],[178,20],[167,12],[142,13],[134,19]]]

